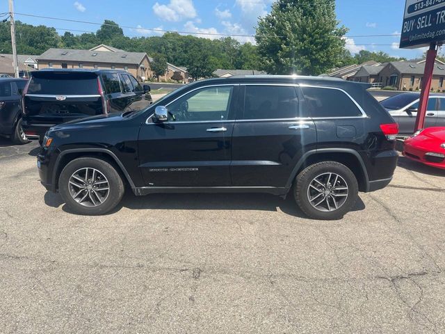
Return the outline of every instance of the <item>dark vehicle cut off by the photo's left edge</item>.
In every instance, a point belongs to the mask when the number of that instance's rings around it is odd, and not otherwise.
[[[28,143],[22,129],[22,91],[25,79],[0,79],[0,134],[13,143]]]

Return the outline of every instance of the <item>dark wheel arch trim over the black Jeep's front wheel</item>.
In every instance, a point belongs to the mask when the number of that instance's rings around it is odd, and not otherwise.
[[[56,159],[56,163],[54,164],[54,172],[52,177],[54,189],[58,189],[58,179],[63,168],[65,168],[70,161],[81,157],[92,157],[107,161],[116,168],[122,177],[122,180],[126,181],[129,186],[131,186],[131,189],[135,189],[136,186],[134,185],[133,180],[131,180],[125,166],[113,152],[106,150],[105,148],[79,148],[60,152]]]

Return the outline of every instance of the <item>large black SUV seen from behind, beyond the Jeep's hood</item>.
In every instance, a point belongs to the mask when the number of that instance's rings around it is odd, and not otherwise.
[[[41,70],[24,89],[23,128],[43,140],[49,127],[79,118],[146,109],[149,86],[117,70]]]

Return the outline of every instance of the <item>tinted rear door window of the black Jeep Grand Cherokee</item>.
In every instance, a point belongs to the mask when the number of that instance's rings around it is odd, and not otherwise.
[[[243,120],[296,118],[298,96],[293,86],[245,86]]]

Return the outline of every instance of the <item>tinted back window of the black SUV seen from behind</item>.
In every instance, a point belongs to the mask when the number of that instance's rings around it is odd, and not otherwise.
[[[98,94],[96,75],[39,73],[33,76],[28,94],[44,95],[92,95]]]

